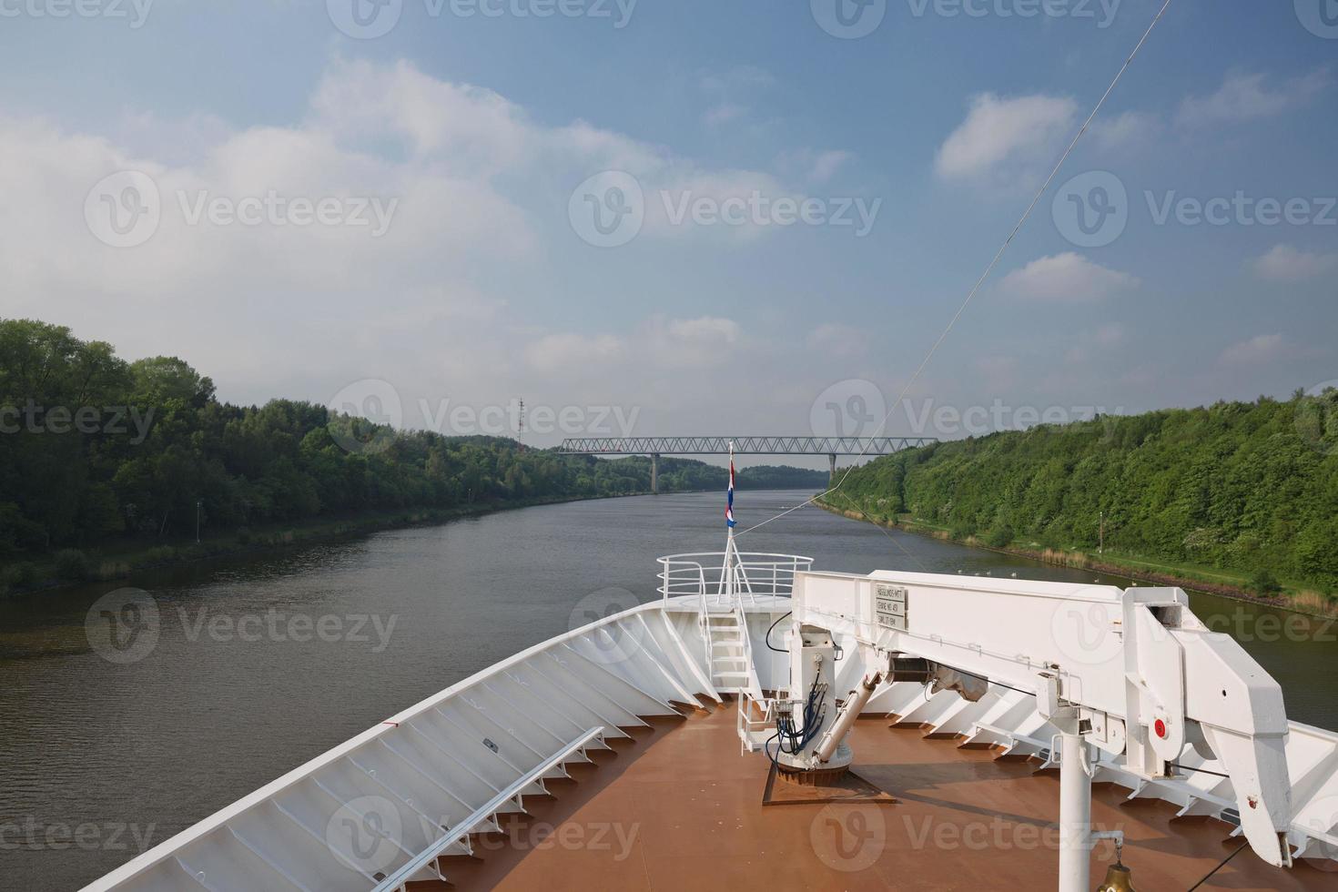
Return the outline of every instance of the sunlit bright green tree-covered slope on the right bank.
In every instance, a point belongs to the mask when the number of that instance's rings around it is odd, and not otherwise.
[[[827,499],[989,544],[1107,550],[1338,588],[1338,391],[1040,425],[855,468]]]

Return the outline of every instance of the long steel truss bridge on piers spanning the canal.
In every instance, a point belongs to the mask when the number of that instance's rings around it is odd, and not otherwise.
[[[836,473],[836,456],[891,455],[938,443],[934,437],[586,437],[563,440],[569,455],[649,455],[650,488],[660,492],[662,455],[826,455]]]

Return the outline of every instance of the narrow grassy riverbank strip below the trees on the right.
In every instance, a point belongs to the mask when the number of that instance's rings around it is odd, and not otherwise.
[[[1179,588],[1216,595],[1219,598],[1230,598],[1232,600],[1255,604],[1267,604],[1270,607],[1290,610],[1293,612],[1306,614],[1310,617],[1338,617],[1338,602],[1327,598],[1322,592],[1309,590],[1286,590],[1279,595],[1260,595],[1259,592],[1250,590],[1250,580],[1244,574],[1234,574],[1231,571],[1212,567],[1195,567],[1188,564],[1173,564],[1163,560],[1145,560],[1133,555],[1112,552],[1094,555],[1080,550],[1046,548],[1040,544],[1025,546],[1014,543],[999,547],[987,544],[975,536],[954,539],[946,527],[930,524],[923,520],[900,518],[884,520],[871,518],[863,511],[840,508],[828,504],[822,499],[815,500],[814,504],[832,514],[850,518],[851,520],[862,520],[864,523],[886,527],[888,530],[900,530],[902,532],[910,532],[914,535],[930,536],[946,542],[957,542],[958,544],[970,546],[973,548],[994,551],[1004,555],[1014,555],[1057,567],[1105,572],[1115,576],[1137,579],[1139,582],[1149,582],[1157,586],[1175,586]]]

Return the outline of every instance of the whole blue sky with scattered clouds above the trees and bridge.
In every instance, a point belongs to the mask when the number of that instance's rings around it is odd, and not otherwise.
[[[353,0],[157,0],[139,27],[130,0],[87,1],[126,17],[0,0],[0,314],[181,354],[238,401],[372,393],[443,427],[524,399],[583,419],[539,441],[605,432],[605,407],[644,435],[832,433],[828,404],[890,401],[1160,7],[887,0],[840,39],[828,0],[551,17],[392,0],[389,32],[357,39],[334,25]],[[943,407],[1002,404],[1012,427],[1024,407],[1338,378],[1338,29],[1319,3],[1176,0],[1056,181],[1104,171],[1070,189],[1094,201],[1113,175],[1123,230],[1074,243],[1078,205],[1048,195],[888,431],[981,432],[933,420]],[[606,247],[577,221],[603,171],[644,213]],[[114,246],[95,217],[127,182],[161,214]],[[226,215],[270,193],[343,203],[308,226]],[[1177,205],[1238,193],[1220,225]],[[761,217],[712,222],[749,197]],[[191,215],[214,199],[222,217]],[[384,231],[353,225],[357,199]],[[1263,225],[1260,199],[1293,222]],[[815,222],[779,225],[804,201]],[[868,433],[882,412],[860,415],[831,424]]]

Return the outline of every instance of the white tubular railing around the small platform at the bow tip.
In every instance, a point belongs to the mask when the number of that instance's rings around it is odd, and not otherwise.
[[[795,574],[809,570],[812,558],[761,552],[735,552],[727,568],[724,551],[660,558],[660,595],[697,598],[705,612],[708,604],[733,607],[759,596],[788,598],[795,588]],[[732,592],[732,596],[731,596]]]

